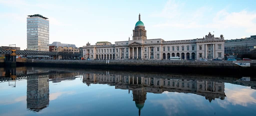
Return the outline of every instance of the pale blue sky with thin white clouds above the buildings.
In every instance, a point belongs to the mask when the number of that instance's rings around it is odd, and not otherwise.
[[[196,39],[209,32],[245,38],[256,35],[255,6],[255,0],[0,0],[0,46],[26,49],[26,18],[34,14],[49,18],[50,44],[128,41],[139,14],[147,39]]]

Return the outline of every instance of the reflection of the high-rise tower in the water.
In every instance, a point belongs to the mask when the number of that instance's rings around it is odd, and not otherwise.
[[[49,105],[49,75],[27,78],[27,109],[39,112]]]

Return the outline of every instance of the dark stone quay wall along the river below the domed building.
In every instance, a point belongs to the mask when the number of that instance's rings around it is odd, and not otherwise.
[[[234,63],[250,63],[250,67],[241,67]],[[256,68],[256,61],[174,61],[174,60],[31,60],[25,65],[46,67],[81,67],[120,69],[136,71],[164,72],[204,72],[204,73],[250,73]]]

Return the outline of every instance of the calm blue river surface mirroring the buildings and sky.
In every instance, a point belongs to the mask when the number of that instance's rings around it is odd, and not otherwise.
[[[256,115],[256,79],[0,68],[0,115]]]

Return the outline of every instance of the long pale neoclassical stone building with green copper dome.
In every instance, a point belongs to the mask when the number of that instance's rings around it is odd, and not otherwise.
[[[115,44],[99,42],[101,44],[83,46],[83,54],[91,59],[109,60],[168,60],[170,57],[180,57],[184,60],[224,58],[224,37],[214,37],[210,32],[204,38],[192,40],[164,41],[163,39],[147,39],[144,23],[135,24],[132,40],[119,41]],[[97,42],[98,43],[98,42]]]

